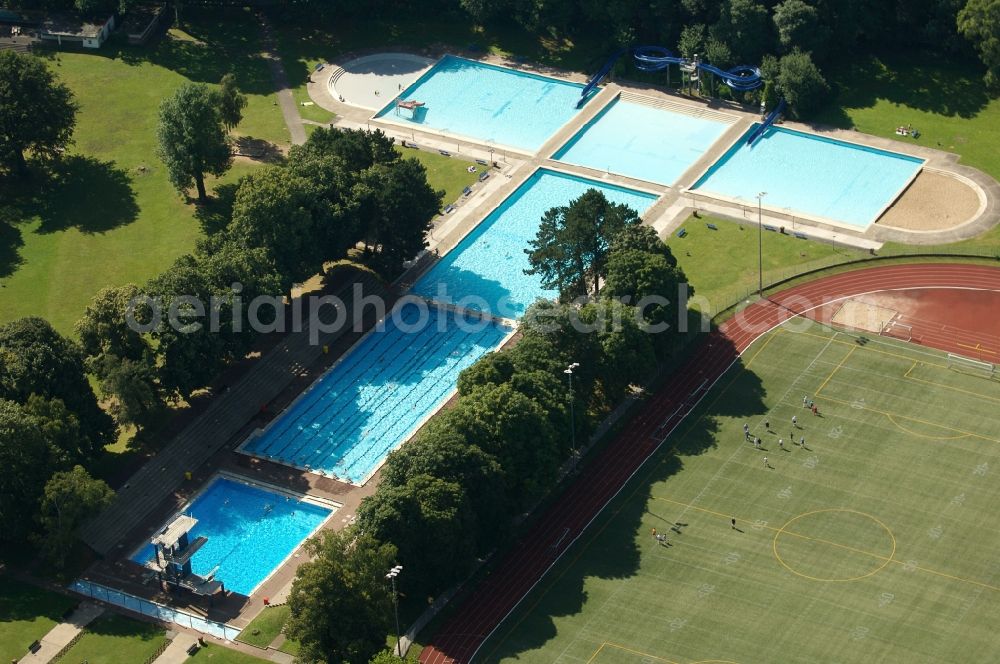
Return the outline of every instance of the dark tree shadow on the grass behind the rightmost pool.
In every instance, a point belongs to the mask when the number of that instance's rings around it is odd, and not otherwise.
[[[989,104],[981,72],[919,53],[861,58],[832,77],[834,104],[818,120],[851,128],[848,108],[870,108],[879,99],[944,116],[972,118]]]

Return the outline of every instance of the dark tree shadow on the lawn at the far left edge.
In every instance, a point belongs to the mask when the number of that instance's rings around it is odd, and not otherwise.
[[[128,174],[114,162],[70,155],[30,180],[0,186],[0,219],[18,222],[38,217],[38,233],[76,228],[103,233],[132,223],[139,216]],[[0,271],[3,265],[0,232]]]

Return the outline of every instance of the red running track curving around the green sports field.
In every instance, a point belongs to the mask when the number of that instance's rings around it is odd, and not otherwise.
[[[493,573],[462,601],[434,635],[422,664],[465,664],[624,488],[740,354],[786,320],[832,301],[886,290],[964,288],[1000,291],[1000,269],[978,265],[915,264],[876,267],[825,277],[755,303],[708,335],[673,379],[649,398],[598,458],[506,554]],[[990,321],[982,321],[984,335]],[[926,332],[926,333],[925,333]],[[914,329],[925,345],[961,352],[953,337]],[[940,344],[940,345],[938,345]]]

